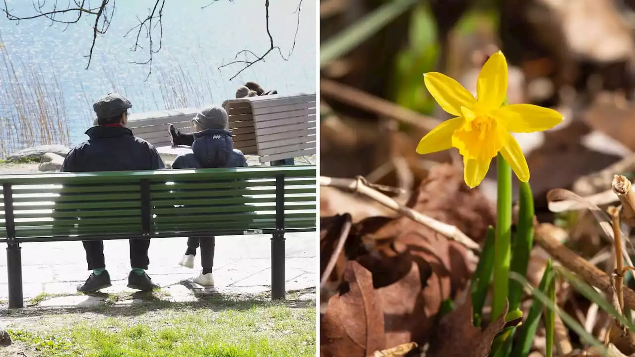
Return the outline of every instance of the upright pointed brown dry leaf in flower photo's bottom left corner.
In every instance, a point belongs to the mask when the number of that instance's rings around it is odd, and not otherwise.
[[[366,356],[385,347],[384,314],[373,291],[370,271],[349,261],[348,289],[331,297],[320,320],[321,356]]]

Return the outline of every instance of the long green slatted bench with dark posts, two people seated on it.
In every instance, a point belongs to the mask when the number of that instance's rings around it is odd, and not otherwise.
[[[284,299],[284,233],[316,231],[315,166],[16,174],[0,183],[9,308],[23,307],[20,243],[271,234],[271,295]]]

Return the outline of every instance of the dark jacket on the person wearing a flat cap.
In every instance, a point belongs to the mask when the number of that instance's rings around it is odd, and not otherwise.
[[[62,172],[135,171],[164,169],[156,148],[123,126],[94,126],[88,140],[70,150]]]

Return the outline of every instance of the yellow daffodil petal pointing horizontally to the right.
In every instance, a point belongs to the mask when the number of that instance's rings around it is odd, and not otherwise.
[[[532,133],[551,129],[563,120],[556,110],[531,104],[512,104],[492,110],[490,115],[512,133]]]

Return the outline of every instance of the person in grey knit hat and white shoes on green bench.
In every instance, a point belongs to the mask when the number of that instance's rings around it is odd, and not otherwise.
[[[240,150],[234,149],[231,131],[227,127],[227,112],[222,107],[209,107],[201,110],[192,119],[194,124],[194,143],[192,152],[179,155],[172,163],[173,169],[201,169],[213,167],[244,167],[247,159]],[[196,249],[201,247],[201,274],[194,282],[204,286],[213,286],[211,273],[214,265],[215,237],[189,237],[187,250],[178,263],[194,268]]]

